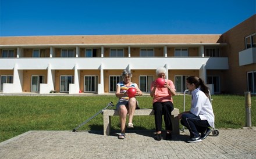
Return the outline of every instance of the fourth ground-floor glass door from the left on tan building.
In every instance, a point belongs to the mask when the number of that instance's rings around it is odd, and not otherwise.
[[[97,92],[98,91],[98,76],[84,76],[84,92]]]

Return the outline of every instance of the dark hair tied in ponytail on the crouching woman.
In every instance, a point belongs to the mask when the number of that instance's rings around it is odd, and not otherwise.
[[[187,82],[189,84],[194,84],[195,88],[198,88],[200,86],[201,91],[204,92],[207,97],[209,97],[209,88],[207,85],[204,84],[204,81],[201,78],[198,78],[196,76],[190,76],[187,78]]]

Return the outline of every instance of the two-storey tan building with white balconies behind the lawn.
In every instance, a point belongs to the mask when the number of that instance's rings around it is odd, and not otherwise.
[[[0,91],[115,93],[124,69],[144,93],[165,67],[177,92],[201,77],[212,93],[256,94],[255,15],[223,34],[0,37]]]

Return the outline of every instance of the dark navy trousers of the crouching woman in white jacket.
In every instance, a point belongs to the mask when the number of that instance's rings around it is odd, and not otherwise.
[[[199,115],[196,116],[192,113],[182,114],[182,120],[180,123],[189,129],[190,137],[198,138],[199,133],[203,133],[207,130],[208,127],[211,127],[207,120],[201,120]]]

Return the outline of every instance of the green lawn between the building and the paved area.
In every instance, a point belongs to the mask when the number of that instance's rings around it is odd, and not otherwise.
[[[150,96],[137,97],[141,108],[152,108]],[[191,96],[186,96],[186,110]],[[246,125],[244,96],[213,95],[216,128],[241,128]],[[0,96],[0,142],[30,130],[70,130],[104,109],[115,96]],[[175,107],[183,111],[183,96],[173,97]],[[254,125],[256,96],[251,97],[251,121]],[[115,109],[112,107],[111,109]],[[155,129],[154,116],[134,117],[134,129]],[[182,127],[182,126],[180,126]],[[112,117],[112,129],[119,130],[119,118]],[[79,130],[103,130],[99,114]]]

